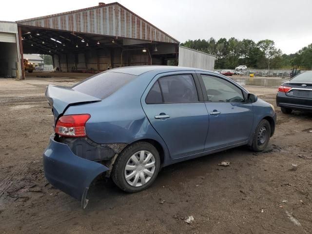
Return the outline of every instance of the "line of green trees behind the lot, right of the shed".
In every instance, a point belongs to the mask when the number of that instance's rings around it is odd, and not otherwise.
[[[290,55],[283,54],[269,39],[257,43],[251,39],[198,39],[188,40],[181,46],[215,55],[215,69],[234,69],[238,65],[268,70],[312,69],[312,44]]]

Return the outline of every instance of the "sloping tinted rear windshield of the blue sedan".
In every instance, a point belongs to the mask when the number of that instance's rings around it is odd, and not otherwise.
[[[116,72],[103,72],[72,86],[73,90],[96,97],[107,98],[136,76]]]

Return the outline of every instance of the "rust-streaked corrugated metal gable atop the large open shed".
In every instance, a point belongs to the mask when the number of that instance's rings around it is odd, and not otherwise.
[[[179,43],[118,2],[17,21],[18,25],[130,39]]]

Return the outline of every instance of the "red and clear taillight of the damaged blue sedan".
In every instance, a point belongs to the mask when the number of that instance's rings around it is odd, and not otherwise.
[[[55,127],[55,132],[64,137],[86,137],[86,122],[91,116],[68,115],[59,118]]]

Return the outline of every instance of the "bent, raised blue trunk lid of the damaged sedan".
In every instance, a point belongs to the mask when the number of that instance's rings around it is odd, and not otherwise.
[[[48,85],[45,97],[52,108],[55,122],[70,105],[101,101],[100,98],[80,93],[68,87],[55,85]]]

